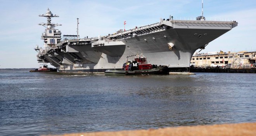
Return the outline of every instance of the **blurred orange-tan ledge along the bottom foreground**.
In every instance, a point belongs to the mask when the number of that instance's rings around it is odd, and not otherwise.
[[[61,136],[255,136],[256,122],[204,126],[166,127],[160,129],[73,133]]]

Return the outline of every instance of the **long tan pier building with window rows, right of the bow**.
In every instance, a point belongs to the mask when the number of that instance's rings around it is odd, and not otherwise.
[[[231,68],[251,69],[255,68],[256,51],[254,52],[208,52],[195,53],[190,61],[191,67],[197,68]]]

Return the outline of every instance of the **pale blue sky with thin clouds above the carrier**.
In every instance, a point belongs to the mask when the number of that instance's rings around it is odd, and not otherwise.
[[[159,22],[160,18],[195,19],[202,0],[0,0],[0,68],[34,68],[36,45],[43,47],[41,34],[47,9],[59,17],[52,22],[63,34],[80,38],[106,36],[123,29]],[[201,52],[255,51],[256,0],[204,0],[206,20],[237,21],[238,26],[209,43]]]

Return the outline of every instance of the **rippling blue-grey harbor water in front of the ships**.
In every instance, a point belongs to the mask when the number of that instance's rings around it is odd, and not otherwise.
[[[256,74],[0,71],[0,135],[256,122]]]

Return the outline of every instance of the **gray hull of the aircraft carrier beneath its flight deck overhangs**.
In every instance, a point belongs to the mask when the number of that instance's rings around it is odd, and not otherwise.
[[[187,70],[189,67],[191,57],[197,49],[229,30],[230,29],[168,29],[152,34],[134,36],[121,40],[123,43],[126,43],[126,46],[123,47],[125,50],[120,56],[109,56],[102,53],[98,56],[98,63],[82,64],[79,68],[73,67],[73,65],[57,68],[59,71],[104,72],[106,69],[121,69],[123,63],[127,60],[127,56],[143,53],[151,64],[168,65],[171,71],[183,71]],[[207,33],[207,36],[198,38],[198,36],[194,36],[195,32],[202,34]],[[164,36],[166,36],[166,38]],[[154,40],[152,39],[153,37],[155,38]],[[145,39],[148,40],[145,41]],[[168,43],[174,43],[175,47],[170,49]],[[119,51],[115,50],[115,47],[112,47],[112,52]],[[85,55],[84,53],[81,54]]]

